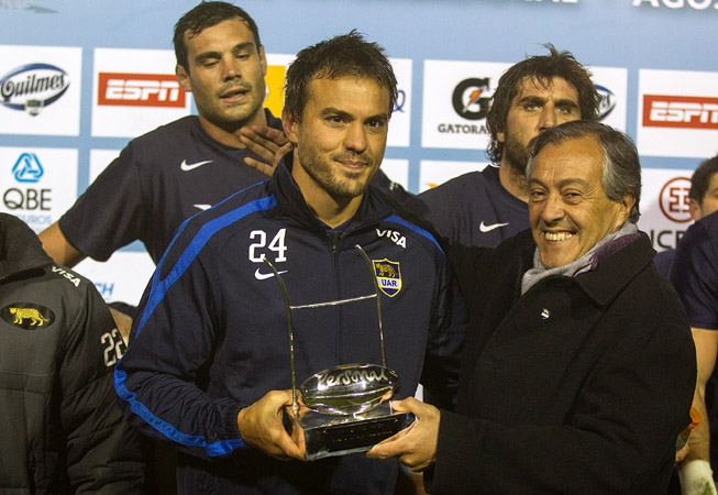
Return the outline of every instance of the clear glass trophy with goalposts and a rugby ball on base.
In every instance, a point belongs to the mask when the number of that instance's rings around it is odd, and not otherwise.
[[[350,299],[292,306],[281,276],[265,257],[279,284],[287,308],[287,331],[289,333],[289,364],[291,371],[291,410],[294,419],[287,427],[299,427],[305,435],[307,460],[365,452],[415,421],[411,413],[396,413],[389,400],[399,392],[399,377],[386,365],[384,327],[382,324],[382,297],[374,274],[374,266],[364,250],[356,250],[369,268],[374,282],[374,294]],[[320,371],[307,378],[297,388],[295,373],[292,311],[325,306],[351,304],[364,299],[376,299],[382,364],[341,364]],[[299,407],[299,398],[303,406]]]

